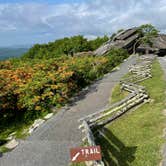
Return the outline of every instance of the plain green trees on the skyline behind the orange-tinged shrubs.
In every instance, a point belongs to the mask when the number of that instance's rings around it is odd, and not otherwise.
[[[35,44],[22,58],[43,59],[59,57],[62,54],[74,55],[77,52],[93,51],[108,40],[107,36],[98,37],[94,40],[87,40],[81,35],[70,38],[66,37],[55,42],[49,42],[48,44]]]

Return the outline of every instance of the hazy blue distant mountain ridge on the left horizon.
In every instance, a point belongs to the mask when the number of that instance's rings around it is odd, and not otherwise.
[[[19,57],[29,50],[27,47],[0,47],[0,60]]]

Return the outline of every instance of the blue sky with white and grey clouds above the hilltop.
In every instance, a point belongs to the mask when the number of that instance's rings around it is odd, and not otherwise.
[[[145,23],[166,32],[165,0],[0,0],[0,46],[111,35]]]

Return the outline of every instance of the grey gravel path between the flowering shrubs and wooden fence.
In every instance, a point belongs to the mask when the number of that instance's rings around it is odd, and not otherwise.
[[[16,149],[0,157],[0,166],[67,166],[69,149],[81,144],[82,133],[78,130],[77,120],[108,103],[111,89],[136,59],[136,56],[130,57],[120,66],[120,70],[93,84],[69,110],[60,111],[30,137],[20,141]]]

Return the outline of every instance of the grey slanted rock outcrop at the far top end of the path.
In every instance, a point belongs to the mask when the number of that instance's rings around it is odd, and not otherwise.
[[[151,46],[139,44],[140,33],[138,28],[131,28],[118,33],[112,40],[110,39],[101,47],[93,52],[94,55],[100,56],[106,54],[112,48],[123,48],[129,53],[136,49],[137,53],[154,53],[159,56],[166,55],[166,35],[159,34],[151,39]]]

